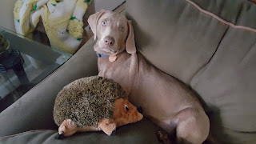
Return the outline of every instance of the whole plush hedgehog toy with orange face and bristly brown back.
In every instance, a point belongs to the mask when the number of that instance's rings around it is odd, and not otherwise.
[[[116,127],[142,118],[118,83],[98,76],[71,82],[58,93],[54,105],[60,137],[99,130],[111,135]]]

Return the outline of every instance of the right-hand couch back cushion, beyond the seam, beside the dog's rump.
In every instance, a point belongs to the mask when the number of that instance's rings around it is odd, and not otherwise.
[[[194,90],[214,111],[214,119],[220,119],[222,126],[230,130],[254,134],[254,142],[255,43],[255,32],[230,27],[210,63],[191,82]]]

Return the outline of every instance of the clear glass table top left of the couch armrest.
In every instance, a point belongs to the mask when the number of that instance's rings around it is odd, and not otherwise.
[[[44,78],[62,66],[72,55],[56,48],[34,42],[0,26],[0,35],[9,44],[8,51],[18,50],[24,63],[22,77],[12,69],[0,70],[0,113]],[[1,52],[0,52],[1,53]],[[3,54],[3,52],[2,52]],[[1,55],[1,54],[0,54]],[[0,61],[1,64],[1,61]],[[22,81],[24,78],[26,81]]]

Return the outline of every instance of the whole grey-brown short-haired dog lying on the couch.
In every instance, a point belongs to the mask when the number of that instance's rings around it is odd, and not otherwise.
[[[178,142],[204,142],[210,122],[198,98],[182,82],[136,54],[131,22],[105,10],[91,15],[88,22],[94,39],[98,38],[94,50],[109,55],[98,58],[98,75],[120,83],[147,118],[169,134],[176,130]]]

